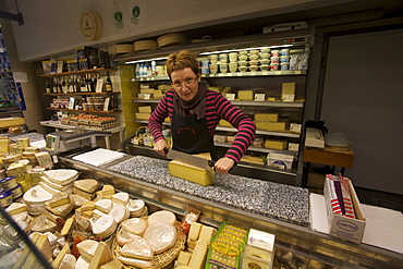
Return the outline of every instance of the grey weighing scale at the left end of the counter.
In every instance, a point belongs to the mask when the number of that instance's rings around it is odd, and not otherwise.
[[[80,133],[77,130],[63,130],[49,133],[45,138],[45,149],[54,154],[65,152],[74,148],[97,147],[97,136],[111,135],[111,132],[91,131]]]

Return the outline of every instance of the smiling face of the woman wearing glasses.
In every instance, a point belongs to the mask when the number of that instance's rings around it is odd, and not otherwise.
[[[200,76],[195,74],[190,68],[171,73],[171,84],[178,95],[185,101],[192,100],[197,95],[200,80]]]

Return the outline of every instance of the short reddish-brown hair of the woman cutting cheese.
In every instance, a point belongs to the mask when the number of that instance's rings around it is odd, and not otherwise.
[[[200,73],[195,53],[188,50],[180,50],[169,54],[166,66],[170,78],[173,71],[186,68],[190,68],[196,75]]]

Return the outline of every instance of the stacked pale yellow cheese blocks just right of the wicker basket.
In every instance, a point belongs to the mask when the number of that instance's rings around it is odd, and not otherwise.
[[[187,250],[180,252],[175,266],[178,268],[204,268],[208,245],[215,236],[217,229],[192,222],[187,236]]]

